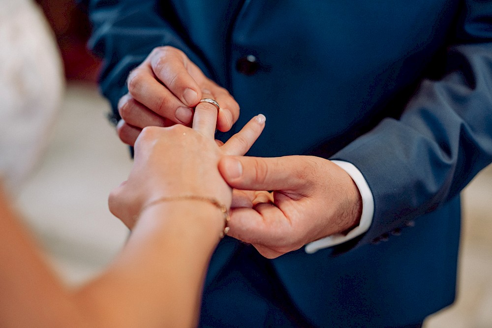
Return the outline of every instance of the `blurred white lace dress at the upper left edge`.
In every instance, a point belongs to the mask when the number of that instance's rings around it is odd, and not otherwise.
[[[0,0],[0,178],[15,194],[39,160],[64,77],[54,35],[31,0]]]

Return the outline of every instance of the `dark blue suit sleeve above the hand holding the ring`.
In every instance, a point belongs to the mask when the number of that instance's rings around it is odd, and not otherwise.
[[[127,92],[128,73],[158,46],[181,49],[205,74],[207,67],[179,32],[179,21],[166,1],[86,0],[93,32],[89,48],[104,59],[100,88],[113,108],[113,121],[120,119],[117,104]]]

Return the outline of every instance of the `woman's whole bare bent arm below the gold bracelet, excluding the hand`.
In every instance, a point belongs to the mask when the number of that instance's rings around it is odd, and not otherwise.
[[[223,228],[205,202],[161,203],[142,213],[120,256],[97,279],[67,289],[0,190],[0,326],[189,327]]]

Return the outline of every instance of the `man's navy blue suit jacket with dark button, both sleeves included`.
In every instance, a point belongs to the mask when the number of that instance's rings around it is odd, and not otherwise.
[[[240,104],[223,138],[263,113],[249,155],[315,154],[362,172],[367,233],[273,260],[313,324],[404,325],[453,302],[459,193],[492,157],[492,1],[96,0],[90,13],[113,108],[128,72],[171,45]],[[237,69],[247,55],[251,74]],[[219,244],[206,286],[237,245]]]

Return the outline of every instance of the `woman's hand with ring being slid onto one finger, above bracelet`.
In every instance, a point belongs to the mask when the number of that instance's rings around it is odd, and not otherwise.
[[[135,142],[135,162],[127,181],[111,193],[109,209],[132,228],[142,208],[161,197],[215,198],[228,208],[231,188],[218,172],[223,155],[243,155],[258,138],[265,117],[258,115],[224,145],[214,140],[217,109],[196,106],[193,128],[181,124],[146,127]]]

